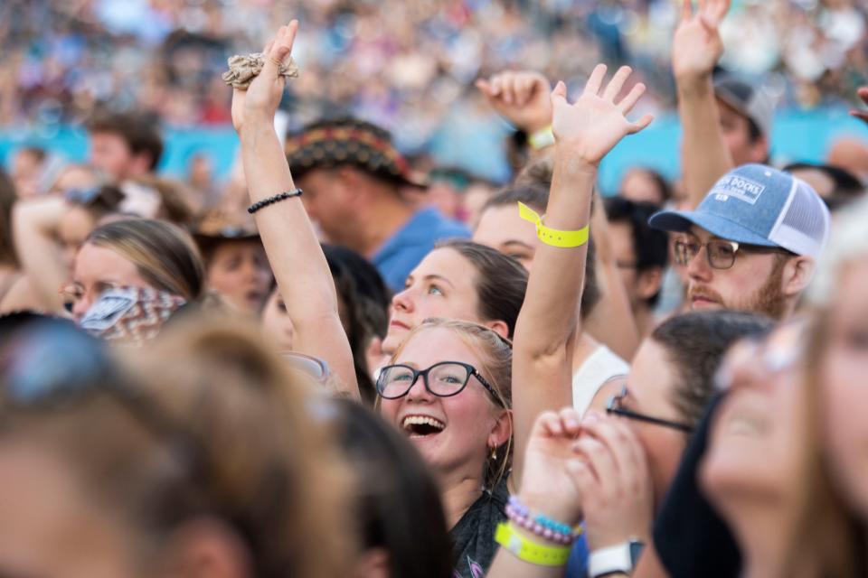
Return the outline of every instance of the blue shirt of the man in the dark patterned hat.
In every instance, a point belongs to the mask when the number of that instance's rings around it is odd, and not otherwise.
[[[398,229],[373,256],[373,265],[383,281],[397,293],[404,288],[410,271],[431,252],[438,241],[448,238],[468,238],[470,231],[454,220],[440,215],[436,209],[422,209]]]

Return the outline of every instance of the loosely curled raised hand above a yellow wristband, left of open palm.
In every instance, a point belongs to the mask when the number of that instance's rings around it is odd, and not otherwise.
[[[501,117],[527,133],[552,123],[552,85],[539,72],[501,72],[491,79],[476,80],[476,88]]]

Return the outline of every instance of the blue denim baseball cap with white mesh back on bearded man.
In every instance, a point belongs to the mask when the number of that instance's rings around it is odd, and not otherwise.
[[[807,182],[764,164],[727,172],[696,210],[661,210],[648,219],[665,231],[697,225],[720,238],[815,259],[826,245],[829,223],[826,204]]]

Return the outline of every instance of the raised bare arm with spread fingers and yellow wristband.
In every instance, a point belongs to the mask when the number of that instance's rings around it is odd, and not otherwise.
[[[616,102],[630,71],[627,67],[618,70],[604,90],[606,66],[599,64],[575,104],[567,101],[562,82],[552,92],[556,144],[546,227],[561,231],[586,227],[599,162],[624,136],[651,122],[650,116],[637,123],[626,117],[645,92],[644,85],[637,84]],[[587,250],[587,244],[571,248],[543,244],[533,260],[514,339],[514,480],[521,479],[524,450],[536,416],[571,405],[572,350],[580,327]]]

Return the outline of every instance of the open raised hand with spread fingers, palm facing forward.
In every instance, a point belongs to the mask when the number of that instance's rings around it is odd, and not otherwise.
[[[629,67],[621,67],[600,94],[606,65],[598,64],[585,91],[572,105],[567,101],[566,85],[558,83],[552,91],[552,129],[559,148],[567,146],[577,160],[597,165],[622,138],[651,124],[654,119],[651,115],[635,123],[627,120],[627,114],[645,94],[645,85],[641,82],[620,102],[615,101],[631,72]]]

